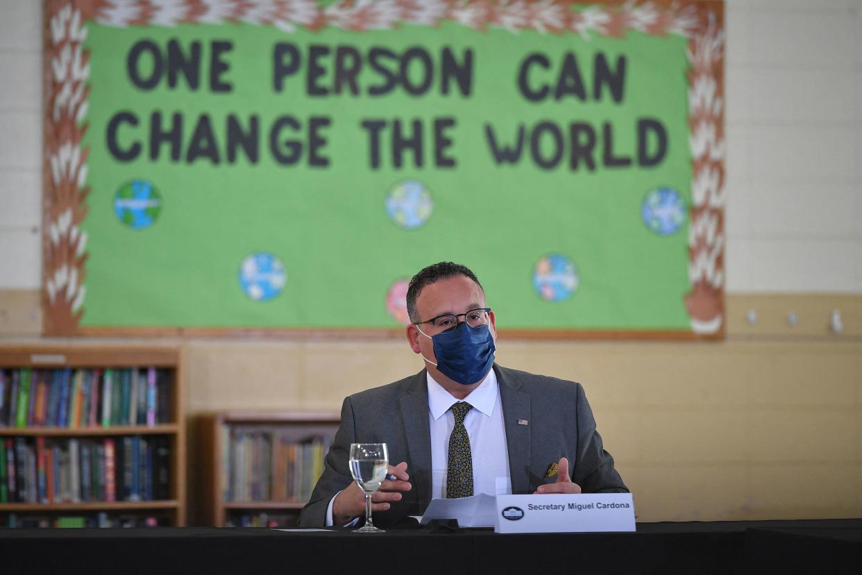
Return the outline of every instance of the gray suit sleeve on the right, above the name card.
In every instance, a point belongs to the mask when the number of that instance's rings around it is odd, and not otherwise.
[[[614,458],[604,450],[581,384],[578,384],[576,402],[578,451],[572,466],[572,481],[580,485],[584,493],[628,493],[628,487],[614,468]]]

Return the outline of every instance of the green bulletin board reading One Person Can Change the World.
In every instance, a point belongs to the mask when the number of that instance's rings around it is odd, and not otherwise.
[[[721,2],[44,18],[47,334],[387,334],[452,260],[503,332],[722,337]]]

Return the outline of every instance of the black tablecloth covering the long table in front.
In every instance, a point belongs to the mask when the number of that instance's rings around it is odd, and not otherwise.
[[[862,520],[638,523],[635,533],[0,529],[0,573],[862,573]]]

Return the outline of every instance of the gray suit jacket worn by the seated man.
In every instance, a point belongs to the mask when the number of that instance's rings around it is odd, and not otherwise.
[[[513,493],[533,493],[551,464],[569,459],[572,481],[584,493],[628,492],[614,459],[602,447],[584,388],[563,379],[494,365],[503,403],[506,447]],[[329,500],[353,480],[347,466],[351,443],[383,443],[392,464],[406,461],[411,491],[388,511],[375,512],[375,525],[421,516],[431,501],[431,436],[425,370],[344,400],[341,425],[324,462],[323,475],[299,518],[303,527],[322,527]],[[526,420],[527,425],[519,425]]]

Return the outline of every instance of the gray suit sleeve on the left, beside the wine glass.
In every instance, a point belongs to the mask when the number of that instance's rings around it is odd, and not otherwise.
[[[329,447],[326,459],[323,459],[323,474],[317,480],[315,490],[311,492],[309,503],[306,503],[299,515],[300,527],[324,527],[329,501],[353,482],[347,459],[350,455],[350,444],[355,441],[355,437],[353,404],[350,397],[347,397],[341,405],[341,425],[335,433],[335,440],[332,447]]]

